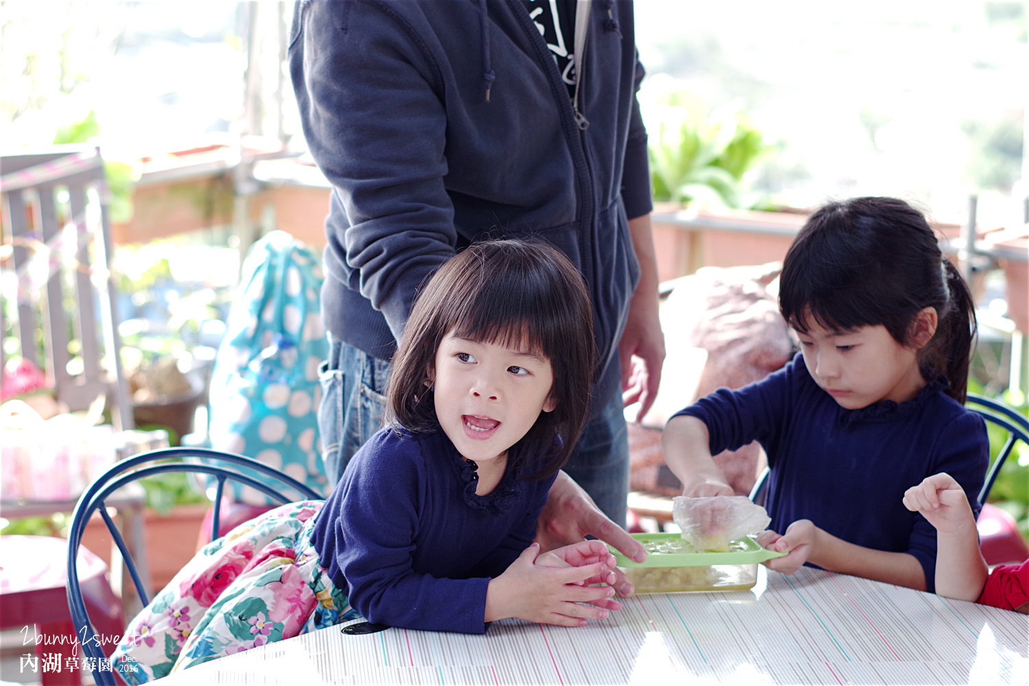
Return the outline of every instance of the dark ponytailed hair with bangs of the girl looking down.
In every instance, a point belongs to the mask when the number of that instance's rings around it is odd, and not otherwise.
[[[921,212],[895,197],[829,203],[786,253],[779,310],[800,331],[808,330],[808,317],[838,331],[883,325],[910,347],[923,308],[935,308],[939,321],[918,353],[922,375],[946,374],[948,395],[964,403],[975,308]]]

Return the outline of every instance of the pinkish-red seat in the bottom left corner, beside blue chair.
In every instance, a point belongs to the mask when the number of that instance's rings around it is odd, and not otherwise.
[[[79,547],[77,566],[83,600],[109,655],[125,633],[121,599],[111,588],[107,565],[100,557]],[[67,569],[68,541],[63,538],[0,536],[0,628],[26,626],[39,637],[36,673],[44,686],[82,683],[73,666],[81,651],[68,609]],[[33,634],[25,638],[32,640]]]

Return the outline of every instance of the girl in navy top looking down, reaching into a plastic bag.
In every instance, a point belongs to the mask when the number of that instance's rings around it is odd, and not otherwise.
[[[757,440],[770,476],[765,547],[802,565],[933,590],[936,531],[904,492],[952,475],[978,512],[983,420],[963,406],[975,321],[922,214],[890,197],[815,212],[786,254],[779,308],[801,355],[673,417],[665,457],[689,497],[733,495],[711,456]]]

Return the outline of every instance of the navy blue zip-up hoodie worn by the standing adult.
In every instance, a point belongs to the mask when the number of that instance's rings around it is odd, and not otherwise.
[[[523,0],[297,3],[293,87],[333,186],[322,291],[332,334],[389,359],[418,287],[457,250],[534,237],[586,278],[595,397],[611,396],[639,274],[627,220],[650,211],[632,10],[592,3],[580,128]]]

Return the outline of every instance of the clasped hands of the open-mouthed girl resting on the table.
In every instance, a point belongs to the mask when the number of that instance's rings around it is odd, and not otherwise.
[[[540,555],[538,543],[530,545],[503,574],[490,581],[485,620],[518,617],[545,624],[582,626],[587,619],[606,618],[608,608],[617,609],[610,607],[610,603],[617,605],[610,601],[614,589],[588,584],[614,579],[608,566],[610,561],[593,551],[594,543],[599,542],[583,541],[544,553],[545,556]],[[606,553],[606,547],[604,550]],[[602,559],[578,566],[572,564],[584,563],[591,555]]]

